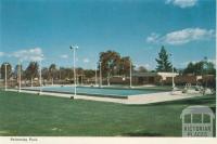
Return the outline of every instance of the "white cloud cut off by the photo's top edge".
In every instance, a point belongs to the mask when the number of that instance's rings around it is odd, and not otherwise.
[[[174,4],[176,6],[180,6],[182,9],[194,6],[197,0],[166,0],[166,4]]]

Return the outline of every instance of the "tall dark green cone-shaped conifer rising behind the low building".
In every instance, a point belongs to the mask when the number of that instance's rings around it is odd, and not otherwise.
[[[158,58],[155,58],[157,66],[156,71],[171,71],[171,63],[168,61],[168,53],[166,52],[164,45],[158,53]]]

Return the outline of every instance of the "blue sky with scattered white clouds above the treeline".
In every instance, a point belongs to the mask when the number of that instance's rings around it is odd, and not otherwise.
[[[174,66],[207,56],[215,62],[215,0],[1,0],[0,64],[39,61],[94,68],[114,50],[133,65],[155,69],[165,45]],[[171,57],[170,57],[171,61]]]

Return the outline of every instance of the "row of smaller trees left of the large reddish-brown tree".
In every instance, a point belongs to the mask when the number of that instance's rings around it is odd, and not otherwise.
[[[7,66],[5,66],[7,65]],[[1,65],[1,78],[5,78],[5,67],[7,67],[7,78],[16,78],[20,70],[22,74],[22,79],[33,80],[39,77],[39,64],[37,62],[30,62],[26,69],[23,69],[22,65],[16,65],[14,70],[12,70],[12,65],[10,63],[3,63]],[[21,68],[21,69],[20,69]],[[95,71],[92,69],[82,69],[80,67],[76,68],[77,75],[86,76],[87,78],[92,78],[95,75]],[[43,67],[41,69],[41,76],[47,80],[69,80],[74,77],[73,68],[60,67],[55,64],[51,64],[49,67]]]

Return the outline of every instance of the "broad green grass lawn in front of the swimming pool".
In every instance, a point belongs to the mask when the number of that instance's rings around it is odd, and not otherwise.
[[[0,135],[181,136],[180,114],[190,105],[216,113],[215,95],[122,105],[0,91]]]

